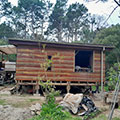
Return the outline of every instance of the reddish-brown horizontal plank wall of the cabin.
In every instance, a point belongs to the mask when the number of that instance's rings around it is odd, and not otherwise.
[[[93,52],[93,72],[74,72],[75,51],[64,48],[46,48],[22,46],[17,49],[17,81],[34,81],[47,79],[52,81],[79,81],[100,82],[101,79],[101,52]],[[45,71],[43,64],[47,55],[51,55],[52,70]],[[105,55],[104,55],[104,77],[105,77]]]

